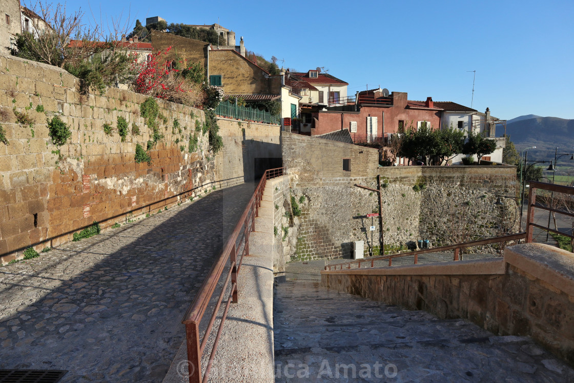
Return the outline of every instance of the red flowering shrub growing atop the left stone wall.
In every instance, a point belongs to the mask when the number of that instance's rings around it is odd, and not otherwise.
[[[171,48],[153,53],[145,61],[133,61],[133,68],[137,72],[134,91],[184,105],[203,105],[205,94],[200,84],[185,76],[195,66],[188,68],[187,61],[179,58],[176,61],[166,59]]]

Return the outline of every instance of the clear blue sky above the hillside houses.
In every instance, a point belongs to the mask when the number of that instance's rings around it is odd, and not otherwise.
[[[88,5],[89,4],[89,5]],[[511,119],[574,119],[574,2],[191,1],[68,2],[68,9],[218,22],[249,51],[285,67],[324,67],[349,92],[379,84],[409,99],[453,101]]]

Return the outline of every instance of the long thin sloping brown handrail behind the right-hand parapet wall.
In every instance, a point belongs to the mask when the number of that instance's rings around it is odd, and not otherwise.
[[[472,246],[490,245],[490,243],[517,241],[518,239],[524,239],[524,238],[526,238],[526,233],[502,235],[501,237],[480,239],[479,241],[456,243],[455,245],[433,247],[432,249],[425,249],[425,250],[415,250],[414,252],[409,252],[409,253],[397,253],[397,254],[391,254],[389,256],[373,257],[369,260],[351,261],[351,262],[344,262],[342,264],[327,265],[327,266],[325,266],[325,270],[327,270],[327,268],[328,268],[328,270],[331,270],[331,266],[333,266],[335,268],[335,270],[337,269],[337,266],[341,266],[340,268],[343,269],[344,265],[347,265],[347,269],[350,269],[352,264],[359,264],[359,268],[360,268],[360,264],[368,263],[368,262],[371,262],[371,267],[374,267],[374,262],[378,261],[378,260],[389,260],[389,266],[392,266],[393,258],[401,258],[401,257],[408,257],[408,256],[414,256],[414,264],[417,264],[418,254],[445,252],[448,250],[455,250],[455,254],[454,254],[453,258],[455,261],[459,261],[460,260],[460,258],[459,258],[460,249],[466,249],[466,247],[472,247]]]

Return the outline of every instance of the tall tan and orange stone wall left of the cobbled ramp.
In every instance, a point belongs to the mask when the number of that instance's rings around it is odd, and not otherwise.
[[[238,122],[221,122],[226,148],[214,157],[208,133],[201,129],[203,111],[156,100],[163,137],[148,151],[148,165],[135,162],[135,146],[145,149],[152,140],[139,107],[146,96],[108,88],[103,95],[82,97],[79,80],[69,73],[6,55],[0,55],[0,84],[0,126],[7,138],[7,145],[0,142],[2,262],[21,257],[29,246],[41,250],[67,242],[94,221],[106,228],[245,180],[247,165],[235,166],[245,163],[243,142],[235,144],[243,138]],[[16,114],[29,121],[20,123]],[[60,147],[52,143],[46,124],[55,116],[72,134]],[[123,141],[118,117],[128,123]],[[104,132],[106,123],[110,134]],[[246,127],[246,140],[253,137],[259,146],[273,140],[280,153],[278,137],[265,137],[278,129]],[[190,150],[191,136],[197,137],[197,145]],[[234,157],[226,161],[226,156]],[[250,169],[253,175],[254,167]]]

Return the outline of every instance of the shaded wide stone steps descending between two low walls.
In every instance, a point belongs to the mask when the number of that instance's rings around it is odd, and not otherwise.
[[[317,282],[279,284],[273,312],[276,382],[574,381],[571,367],[527,336],[495,336]]]

